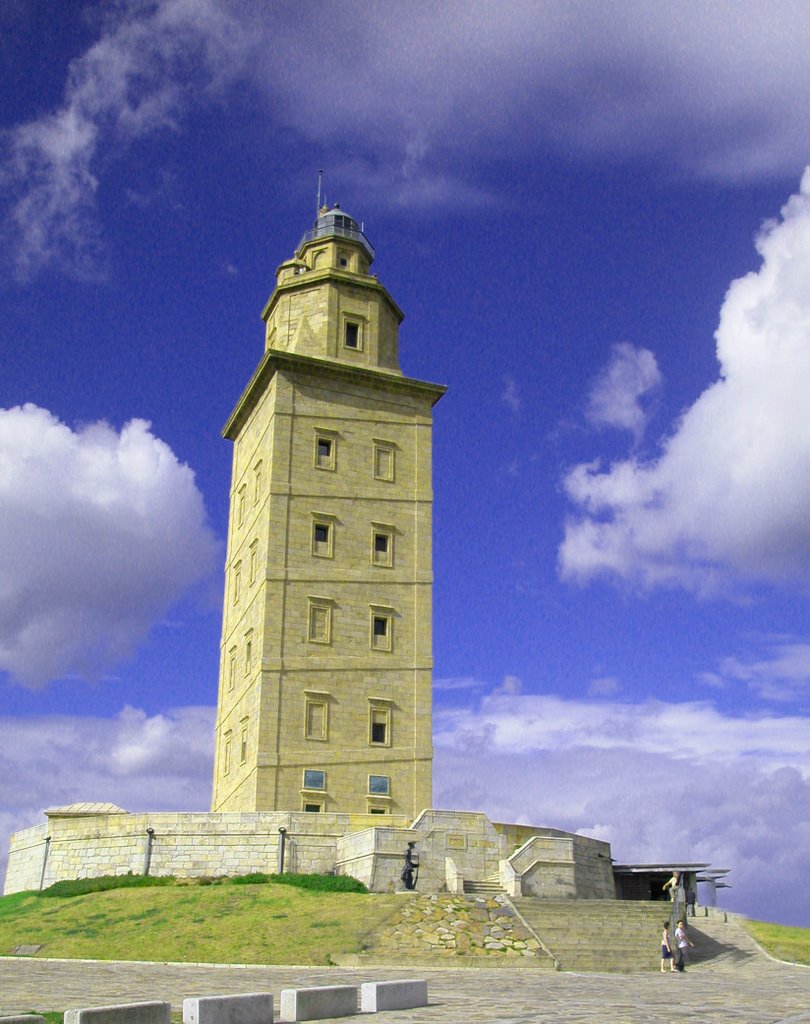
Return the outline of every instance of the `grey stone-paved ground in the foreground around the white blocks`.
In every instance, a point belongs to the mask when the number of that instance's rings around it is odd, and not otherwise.
[[[810,970],[760,955],[686,974],[566,974],[486,968],[228,967],[0,957],[0,1013],[127,1000],[427,978],[429,1005],[381,1012],[374,1024],[810,1024]],[[356,1019],[356,1018],[349,1018]],[[371,1018],[370,1018],[371,1020]],[[345,1018],[344,1018],[345,1021]]]

